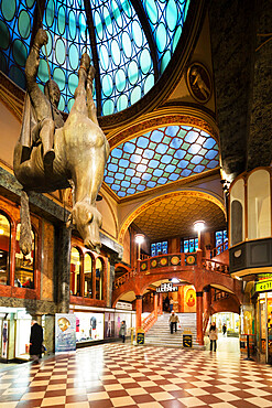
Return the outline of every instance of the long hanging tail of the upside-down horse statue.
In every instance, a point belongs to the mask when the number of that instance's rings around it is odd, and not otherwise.
[[[32,249],[32,236],[31,236],[29,195],[24,190],[22,190],[21,192],[20,215],[21,215],[21,230],[19,246],[23,255],[28,255]]]

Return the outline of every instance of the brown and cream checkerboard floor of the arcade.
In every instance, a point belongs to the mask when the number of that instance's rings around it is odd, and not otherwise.
[[[272,407],[272,367],[238,353],[102,344],[0,373],[0,407]]]

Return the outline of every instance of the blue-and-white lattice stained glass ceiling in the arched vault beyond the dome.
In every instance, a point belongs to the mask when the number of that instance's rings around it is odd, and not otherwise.
[[[124,197],[218,165],[218,146],[211,136],[192,126],[168,126],[115,148],[105,182]]]

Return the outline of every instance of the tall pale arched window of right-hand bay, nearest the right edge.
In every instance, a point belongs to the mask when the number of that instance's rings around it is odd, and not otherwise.
[[[248,179],[248,238],[271,236],[270,173],[257,170]]]

